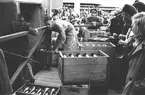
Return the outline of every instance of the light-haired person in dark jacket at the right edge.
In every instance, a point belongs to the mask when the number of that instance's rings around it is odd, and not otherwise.
[[[128,54],[129,70],[122,95],[145,95],[145,12],[132,17],[136,45]]]

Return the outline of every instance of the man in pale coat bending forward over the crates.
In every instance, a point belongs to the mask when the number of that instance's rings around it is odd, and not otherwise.
[[[59,49],[65,51],[79,49],[77,32],[70,22],[61,19],[52,20],[49,16],[45,17],[44,22],[47,25],[48,32],[54,31],[59,33],[53,46],[53,51],[58,52]]]

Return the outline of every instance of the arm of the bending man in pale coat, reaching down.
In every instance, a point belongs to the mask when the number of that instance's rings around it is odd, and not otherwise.
[[[57,50],[59,47],[62,47],[65,40],[66,40],[66,35],[65,35],[65,30],[62,29],[61,27],[58,27],[59,35],[57,37],[56,43],[53,47],[53,50]]]

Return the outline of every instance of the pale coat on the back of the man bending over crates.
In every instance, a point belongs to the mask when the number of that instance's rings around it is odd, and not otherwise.
[[[77,32],[70,22],[60,19],[54,20],[51,30],[59,33],[56,43],[63,43],[63,50],[77,49]]]

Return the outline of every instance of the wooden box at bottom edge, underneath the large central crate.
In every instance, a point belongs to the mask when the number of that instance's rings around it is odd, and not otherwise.
[[[81,85],[62,85],[60,87],[60,95],[89,95],[90,86]]]

